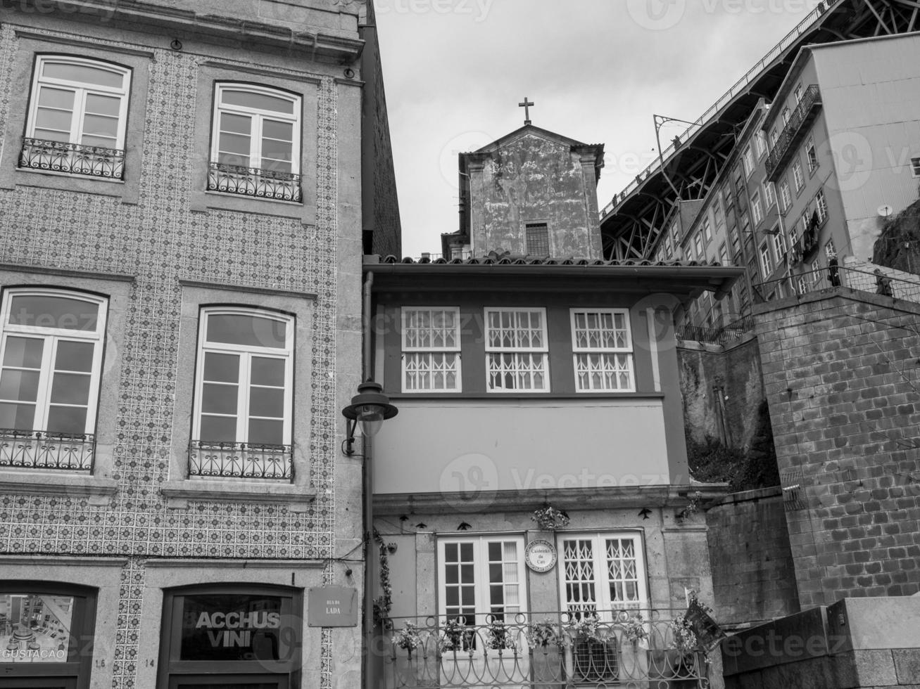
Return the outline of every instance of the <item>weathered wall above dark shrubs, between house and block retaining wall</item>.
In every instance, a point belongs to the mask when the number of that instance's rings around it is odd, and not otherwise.
[[[728,431],[725,445],[750,446],[757,431],[757,409],[764,399],[757,341],[751,338],[728,349],[682,342],[677,360],[687,437],[696,441],[707,435],[720,437],[721,415]]]

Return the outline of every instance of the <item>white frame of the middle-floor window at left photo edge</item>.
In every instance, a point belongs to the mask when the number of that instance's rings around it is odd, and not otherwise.
[[[22,325],[9,322],[13,299],[20,296],[37,295],[47,297],[61,297],[86,301],[98,307],[96,330],[84,331],[70,328],[50,327],[41,325]],[[105,342],[106,320],[108,315],[109,300],[105,297],[70,289],[54,288],[8,288],[3,291],[2,307],[0,307],[0,366],[6,358],[6,343],[9,337],[22,337],[41,339],[44,344],[41,350],[41,364],[39,372],[38,395],[35,402],[35,416],[32,428],[17,429],[23,431],[48,431],[48,417],[52,406],[52,383],[55,372],[54,362],[57,355],[58,344],[64,342],[78,342],[93,344],[93,362],[90,371],[89,391],[86,404],[86,424],[83,433],[96,432],[97,410],[99,400],[99,384],[102,378],[102,350]],[[10,367],[17,368],[17,367]],[[26,369],[23,369],[26,370]],[[30,369],[31,370],[31,369]],[[64,371],[66,373],[66,371]],[[10,403],[19,401],[9,400]],[[20,402],[21,403],[21,402]],[[56,406],[79,406],[76,404],[56,404]]]

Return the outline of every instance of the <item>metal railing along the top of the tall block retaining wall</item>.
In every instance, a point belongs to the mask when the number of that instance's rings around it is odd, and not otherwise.
[[[837,265],[756,283],[753,285],[753,291],[761,301],[770,301],[779,299],[780,296],[800,297],[822,289],[846,287],[920,303],[920,276],[914,280],[892,276],[882,268],[879,268],[879,271],[880,274],[877,275],[874,270]]]

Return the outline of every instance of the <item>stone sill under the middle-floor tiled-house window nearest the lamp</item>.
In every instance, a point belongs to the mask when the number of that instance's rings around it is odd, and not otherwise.
[[[316,491],[290,483],[253,483],[240,480],[171,480],[160,488],[170,509],[190,502],[229,501],[281,504],[291,512],[306,512]]]

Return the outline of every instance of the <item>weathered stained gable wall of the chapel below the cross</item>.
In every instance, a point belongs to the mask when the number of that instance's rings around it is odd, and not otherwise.
[[[481,253],[525,254],[524,223],[535,221],[548,226],[549,254],[600,258],[600,220],[589,203],[596,209],[597,193],[578,153],[526,134],[491,155],[472,190],[471,232],[484,237]]]

